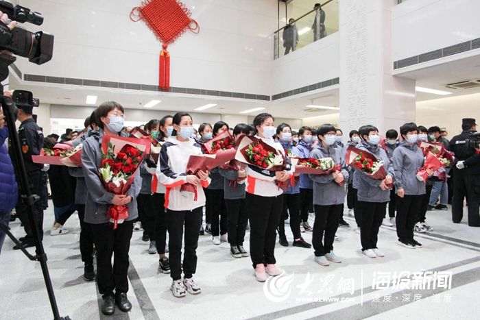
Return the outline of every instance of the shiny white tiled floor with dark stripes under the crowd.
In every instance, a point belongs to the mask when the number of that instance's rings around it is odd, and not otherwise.
[[[195,279],[202,286],[202,294],[187,294],[182,299],[171,295],[169,275],[158,273],[158,258],[147,254],[148,245],[141,241],[141,232],[134,232],[128,293],[133,308],[128,314],[117,310],[114,318],[478,319],[479,228],[468,227],[466,222],[451,223],[450,211],[427,212],[434,231],[416,237],[423,243],[422,249],[399,247],[394,227],[382,227],[379,248],[385,258],[372,259],[361,254],[355,221],[345,215],[352,227],[339,228],[340,240],[334,244],[343,262],[322,267],[313,261],[313,249],[277,245],[278,266],[286,273],[265,285],[254,280],[250,258],[232,258],[227,243],[215,246],[211,237],[200,236]],[[51,207],[45,211],[45,230],[52,222]],[[18,220],[10,226],[16,236],[23,236]],[[69,234],[46,234],[44,240],[60,315],[75,320],[104,319],[95,282],[82,280],[80,224],[75,214],[66,227]],[[288,225],[286,229],[289,232]],[[249,247],[248,236],[247,232],[245,248]],[[311,232],[304,238],[311,243]],[[414,272],[423,271],[440,271],[447,277],[451,272],[451,288],[433,288],[433,284],[440,286],[438,278],[427,281],[431,287],[424,290],[372,288],[374,281],[380,283],[382,275],[402,273],[400,277],[406,283],[415,277]],[[325,299],[328,297],[331,301]],[[5,240],[0,256],[0,305],[0,319],[51,319],[40,265],[13,251],[10,239]]]

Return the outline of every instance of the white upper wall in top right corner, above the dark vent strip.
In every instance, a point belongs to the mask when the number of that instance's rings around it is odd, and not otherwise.
[[[411,0],[392,8],[394,61],[480,38],[480,1]]]

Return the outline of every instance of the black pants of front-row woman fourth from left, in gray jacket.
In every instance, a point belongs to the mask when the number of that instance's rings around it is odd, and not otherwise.
[[[341,204],[331,206],[318,206],[315,204],[314,208],[315,223],[313,223],[312,245],[313,249],[315,249],[315,256],[320,257],[333,250],[335,232],[337,232],[338,222],[341,217]]]

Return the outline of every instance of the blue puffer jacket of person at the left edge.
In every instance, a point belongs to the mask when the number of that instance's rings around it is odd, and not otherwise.
[[[7,138],[8,128],[5,126],[0,130],[0,211],[10,212],[18,195],[12,160],[5,146]]]

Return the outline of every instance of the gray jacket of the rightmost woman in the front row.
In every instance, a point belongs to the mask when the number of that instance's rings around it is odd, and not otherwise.
[[[402,141],[394,151],[394,184],[396,190],[403,188],[405,195],[424,195],[427,193],[423,181],[416,177],[418,169],[423,167],[423,152],[416,144]]]

